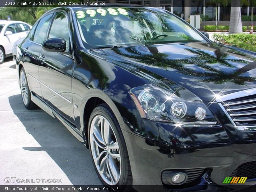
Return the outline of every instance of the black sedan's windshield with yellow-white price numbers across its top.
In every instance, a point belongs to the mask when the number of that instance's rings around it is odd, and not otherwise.
[[[156,8],[91,8],[75,11],[86,48],[206,42],[184,21]]]

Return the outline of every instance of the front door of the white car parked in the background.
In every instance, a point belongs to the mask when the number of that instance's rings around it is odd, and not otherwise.
[[[13,44],[20,38],[19,30],[16,26],[16,23],[9,24],[4,32],[4,38],[6,38],[7,43],[4,47],[5,54],[8,55],[12,53]]]

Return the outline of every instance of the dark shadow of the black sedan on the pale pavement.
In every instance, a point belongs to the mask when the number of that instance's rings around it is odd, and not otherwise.
[[[45,151],[73,185],[101,185],[94,170],[89,150],[58,119],[41,109],[27,110],[23,106],[20,94],[10,96],[9,103],[28,134],[33,136],[41,146],[26,146],[23,147],[24,150]],[[35,174],[39,167],[43,169],[42,167],[47,164],[48,162],[45,162],[45,165],[35,164]],[[55,170],[52,170],[51,175],[54,175],[54,172]],[[45,178],[48,178],[48,175],[45,175]],[[67,179],[62,178],[62,180]]]

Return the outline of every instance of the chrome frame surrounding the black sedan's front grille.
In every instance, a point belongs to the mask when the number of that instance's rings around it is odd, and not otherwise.
[[[222,96],[216,98],[216,101],[219,103],[220,108],[224,111],[224,113],[227,115],[230,122],[234,125],[234,127],[238,131],[256,131],[256,125],[237,126],[235,124],[234,120],[228,114],[228,111],[223,107],[223,106],[228,106],[228,104],[226,104],[225,101],[237,99],[237,98],[241,98],[241,97],[245,97],[245,96],[250,96],[250,95],[254,95],[254,94],[256,94],[256,88],[238,91],[238,92],[230,93],[227,95],[222,95]]]

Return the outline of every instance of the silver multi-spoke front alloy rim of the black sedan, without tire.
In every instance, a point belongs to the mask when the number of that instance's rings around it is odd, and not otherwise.
[[[90,126],[90,147],[94,164],[108,185],[116,185],[121,175],[119,145],[109,121],[94,116]]]

